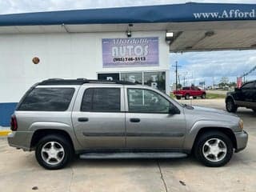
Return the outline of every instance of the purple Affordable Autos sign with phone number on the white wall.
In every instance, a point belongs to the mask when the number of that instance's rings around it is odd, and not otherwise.
[[[103,67],[158,66],[158,38],[103,38]]]

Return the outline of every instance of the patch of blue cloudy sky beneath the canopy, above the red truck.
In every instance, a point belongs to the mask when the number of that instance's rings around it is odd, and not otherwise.
[[[175,82],[174,65],[178,62],[180,83],[189,86],[206,82],[206,86],[218,84],[222,77],[236,82],[237,77],[256,66],[256,50],[222,50],[170,54],[170,81]],[[185,81],[184,81],[185,78]],[[256,79],[256,70],[246,76],[246,81]]]

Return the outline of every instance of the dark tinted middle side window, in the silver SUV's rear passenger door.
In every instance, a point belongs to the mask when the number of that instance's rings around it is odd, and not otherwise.
[[[119,88],[89,88],[82,98],[82,111],[118,112],[121,106]]]

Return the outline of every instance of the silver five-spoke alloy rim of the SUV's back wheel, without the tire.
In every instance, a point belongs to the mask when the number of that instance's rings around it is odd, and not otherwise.
[[[65,151],[59,142],[46,142],[41,150],[42,160],[50,165],[57,165],[62,162]]]

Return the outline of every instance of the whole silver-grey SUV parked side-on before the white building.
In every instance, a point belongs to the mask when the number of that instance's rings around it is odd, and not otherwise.
[[[32,86],[11,117],[10,146],[35,150],[60,169],[80,158],[182,158],[223,166],[246,147],[235,114],[181,105],[150,86],[48,79]]]

